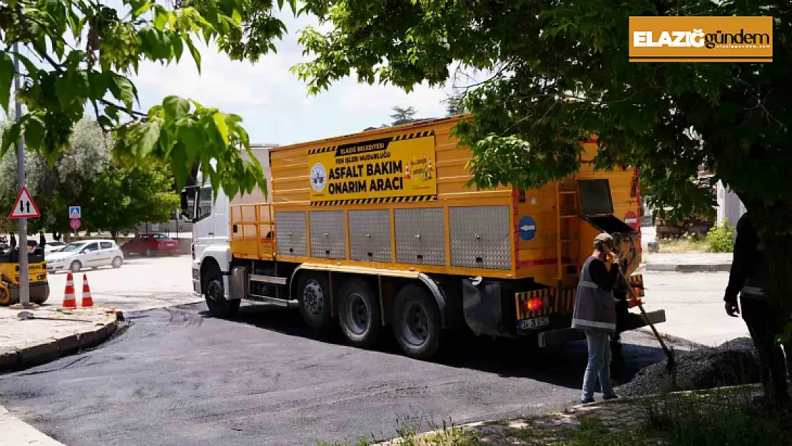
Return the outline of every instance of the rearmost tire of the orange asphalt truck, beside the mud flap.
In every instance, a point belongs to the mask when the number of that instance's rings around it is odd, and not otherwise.
[[[409,284],[396,293],[393,329],[399,347],[409,357],[428,360],[440,348],[440,310],[423,285]]]

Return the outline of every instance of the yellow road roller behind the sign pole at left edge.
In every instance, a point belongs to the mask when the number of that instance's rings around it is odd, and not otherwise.
[[[44,303],[49,297],[47,262],[44,261],[44,253],[28,254],[28,271],[30,302]],[[0,305],[14,303],[19,303],[19,251],[0,251]]]

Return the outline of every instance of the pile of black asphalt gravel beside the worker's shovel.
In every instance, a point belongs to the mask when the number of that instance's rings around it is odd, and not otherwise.
[[[641,396],[760,382],[756,350],[748,337],[714,348],[675,353],[676,376],[668,374],[664,360],[644,368],[616,391],[619,395]]]

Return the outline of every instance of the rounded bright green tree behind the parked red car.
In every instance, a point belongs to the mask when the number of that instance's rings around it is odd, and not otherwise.
[[[173,178],[163,170],[155,163],[105,166],[86,194],[90,198],[82,208],[86,228],[109,231],[118,238],[119,231],[140,223],[169,221],[179,196],[173,193]]]

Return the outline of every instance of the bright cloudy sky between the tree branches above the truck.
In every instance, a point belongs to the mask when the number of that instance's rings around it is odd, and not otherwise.
[[[282,20],[288,35],[276,42],[277,54],[262,57],[256,64],[231,61],[213,45],[200,47],[200,75],[188,51],[178,65],[141,64],[133,81],[143,109],[169,94],[189,97],[201,105],[242,116],[251,142],[277,144],[347,135],[388,124],[394,106],[412,106],[416,117],[445,116],[441,101],[451,92],[450,85],[445,89],[417,86],[407,94],[393,86],[369,86],[345,78],[326,92],[309,96],[306,84],[289,70],[310,59],[297,44],[298,31],[318,22],[313,16],[295,18],[290,10],[284,11]]]

